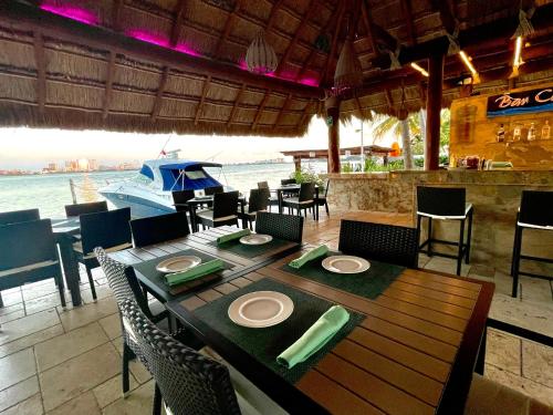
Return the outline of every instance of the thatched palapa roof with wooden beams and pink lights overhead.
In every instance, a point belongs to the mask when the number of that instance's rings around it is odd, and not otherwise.
[[[426,79],[409,66],[446,51],[459,31],[482,83],[509,85],[520,0],[4,0],[0,2],[0,125],[125,132],[301,136],[324,112],[347,34],[364,86],[341,112],[367,118],[425,101]],[[517,86],[553,75],[553,3],[534,8]],[[262,31],[279,66],[244,69]],[[390,53],[403,64],[390,71]],[[444,105],[469,75],[445,66]],[[511,81],[513,82],[513,81]]]

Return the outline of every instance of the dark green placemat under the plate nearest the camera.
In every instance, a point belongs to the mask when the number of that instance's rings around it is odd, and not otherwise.
[[[250,329],[234,324],[228,317],[230,303],[240,295],[253,291],[278,291],[286,294],[294,302],[292,315],[286,321],[265,329]],[[363,314],[348,310],[349,321],[328,343],[305,362],[299,363],[292,369],[286,369],[276,363],[276,356],[300,339],[332,305],[334,304],[330,301],[265,278],[202,305],[196,309],[194,313],[212,330],[222,334],[288,382],[294,384],[365,318]]]

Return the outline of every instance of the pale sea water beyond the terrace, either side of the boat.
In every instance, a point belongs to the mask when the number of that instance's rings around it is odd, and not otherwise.
[[[326,164],[314,162],[311,166],[320,172]],[[229,165],[209,170],[220,183],[244,194],[257,188],[258,181],[267,180],[271,187],[289,177],[293,163]],[[94,172],[72,174],[49,174],[34,176],[0,176],[0,211],[39,208],[43,218],[62,218],[64,206],[72,203],[70,179],[75,184],[79,203],[102,200],[97,189],[106,181],[122,180],[136,175],[136,172]]]

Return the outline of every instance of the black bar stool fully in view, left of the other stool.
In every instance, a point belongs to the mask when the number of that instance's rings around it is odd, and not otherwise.
[[[465,188],[445,188],[445,187],[417,187],[417,229],[420,235],[420,224],[422,217],[428,218],[428,239],[419,246],[419,252],[427,253],[429,257],[457,259],[457,274],[461,274],[461,263],[465,258],[469,263],[470,240],[472,237],[472,215],[474,209],[471,204],[466,203]],[[448,241],[432,238],[432,219],[437,220],[459,220],[459,241]],[[465,241],[465,222],[468,219],[467,241]],[[452,245],[458,247],[458,253],[449,255],[432,251],[432,243]],[[425,250],[424,248],[427,247]]]

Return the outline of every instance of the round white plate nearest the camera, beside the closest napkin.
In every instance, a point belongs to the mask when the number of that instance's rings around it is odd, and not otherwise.
[[[229,318],[244,328],[269,328],[294,311],[290,297],[276,291],[257,291],[239,297],[229,307]]]

